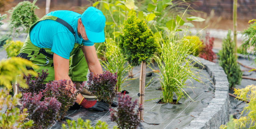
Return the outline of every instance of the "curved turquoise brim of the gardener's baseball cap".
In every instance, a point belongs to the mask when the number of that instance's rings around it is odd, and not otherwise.
[[[104,30],[102,32],[92,32],[85,28],[85,33],[89,41],[93,43],[102,43],[105,42]]]

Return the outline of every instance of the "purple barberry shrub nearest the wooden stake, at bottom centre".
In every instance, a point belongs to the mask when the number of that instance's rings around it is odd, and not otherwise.
[[[117,110],[109,109],[111,121],[115,121],[119,129],[136,129],[140,124],[138,116],[141,111],[140,104],[137,104],[137,99],[133,102],[131,100],[129,95],[118,93]]]

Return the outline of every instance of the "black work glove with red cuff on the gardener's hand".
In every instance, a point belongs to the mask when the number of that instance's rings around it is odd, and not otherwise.
[[[109,105],[104,102],[99,102],[96,100],[89,101],[83,98],[80,102],[80,104],[83,108],[88,109],[88,110],[95,110],[95,111],[107,111]]]

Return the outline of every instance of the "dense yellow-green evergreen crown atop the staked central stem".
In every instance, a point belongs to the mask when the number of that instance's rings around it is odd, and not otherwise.
[[[145,21],[137,18],[134,10],[131,14],[123,23],[123,35],[119,35],[120,52],[132,66],[139,66],[142,61],[148,64],[159,45]]]

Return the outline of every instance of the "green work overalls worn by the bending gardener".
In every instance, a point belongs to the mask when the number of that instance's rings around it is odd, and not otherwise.
[[[46,19],[57,21],[57,17],[54,16],[44,16],[39,21],[43,21]],[[39,22],[37,21],[34,25],[32,25],[29,29],[30,31],[33,27]],[[62,20],[63,21],[63,20]],[[70,26],[71,27],[71,26]],[[35,72],[42,72],[44,69],[48,69],[48,76],[46,78],[46,82],[55,80],[54,79],[54,64],[53,64],[53,52],[49,48],[39,48],[33,45],[29,38],[29,33],[27,39],[20,50],[20,54],[17,57],[21,57],[31,61],[34,65],[37,65],[38,68],[35,68],[33,65],[33,70]],[[69,33],[69,32],[68,32]],[[72,32],[70,32],[72,33]],[[82,52],[81,46],[82,44],[75,43],[72,52],[70,53],[71,64],[69,66],[68,75],[72,81],[86,81],[86,74],[88,72],[88,66],[86,60],[84,58],[84,54]],[[31,68],[27,68],[31,69]]]

